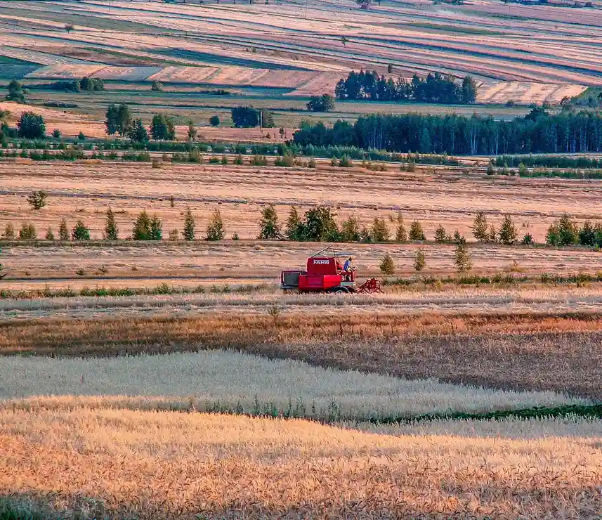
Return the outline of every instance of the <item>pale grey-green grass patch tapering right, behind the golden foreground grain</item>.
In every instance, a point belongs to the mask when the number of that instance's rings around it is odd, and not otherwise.
[[[184,409],[329,421],[589,403],[551,391],[502,391],[435,379],[410,381],[232,351],[127,358],[4,357],[0,372],[6,375],[0,386],[0,398],[5,399],[181,397]]]

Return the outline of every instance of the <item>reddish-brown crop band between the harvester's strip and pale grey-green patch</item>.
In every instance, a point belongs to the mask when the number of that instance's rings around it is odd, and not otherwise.
[[[0,349],[119,356],[234,349],[311,365],[602,399],[596,313],[209,313],[3,323]]]

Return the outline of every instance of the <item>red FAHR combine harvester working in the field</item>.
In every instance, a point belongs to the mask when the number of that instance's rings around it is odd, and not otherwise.
[[[382,292],[381,284],[376,278],[370,278],[362,285],[355,282],[355,267],[345,271],[339,259],[347,259],[348,253],[335,253],[331,256],[320,256],[327,249],[307,259],[306,271],[282,271],[280,289],[299,292]]]

